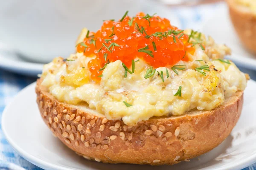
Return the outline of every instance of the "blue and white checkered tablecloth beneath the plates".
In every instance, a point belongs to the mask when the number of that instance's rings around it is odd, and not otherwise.
[[[225,8],[224,3],[213,5],[172,8],[180,20],[181,28],[199,29],[202,23],[207,20],[219,8]],[[256,80],[256,71],[240,68],[241,71],[250,74]],[[0,69],[0,119],[5,106],[24,87],[34,82],[36,78],[20,76]],[[0,120],[1,122],[1,120]],[[255,160],[256,161],[256,160]],[[0,126],[0,170],[41,170],[30,162],[23,159],[8,144]],[[243,170],[256,170],[256,164]]]

